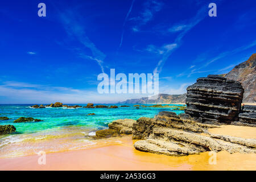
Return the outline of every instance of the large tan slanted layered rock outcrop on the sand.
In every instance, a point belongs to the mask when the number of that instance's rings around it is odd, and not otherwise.
[[[199,154],[206,151],[256,153],[256,139],[212,135],[207,125],[196,122],[188,114],[163,111],[155,118],[139,118],[133,126],[137,150],[173,156]]]

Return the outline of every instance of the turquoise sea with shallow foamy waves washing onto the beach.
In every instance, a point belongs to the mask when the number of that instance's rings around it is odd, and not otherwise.
[[[0,105],[0,116],[9,117],[7,121],[0,121],[0,125],[14,125],[16,132],[9,135],[0,135],[0,158],[31,155],[40,150],[47,152],[79,150],[96,143],[90,139],[95,131],[108,128],[108,123],[116,119],[152,118],[160,111],[174,111],[175,107],[129,107],[108,108],[76,108],[46,107],[34,109],[34,104]],[[81,105],[86,104],[68,104]],[[118,104],[97,104],[117,105]],[[150,104],[143,104],[151,106]],[[168,104],[172,105],[172,104]],[[183,106],[183,105],[172,105]],[[95,115],[87,115],[95,113]],[[42,119],[42,122],[14,123],[19,117]]]

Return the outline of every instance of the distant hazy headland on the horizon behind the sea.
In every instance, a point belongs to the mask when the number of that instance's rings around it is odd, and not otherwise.
[[[142,97],[129,99],[119,104],[175,104],[175,103],[185,103],[186,94],[158,94],[152,97]]]

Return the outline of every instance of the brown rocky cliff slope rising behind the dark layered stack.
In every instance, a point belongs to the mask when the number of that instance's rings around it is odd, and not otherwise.
[[[238,64],[232,71],[224,75],[228,80],[241,82],[245,93],[243,94],[243,102],[256,102],[256,53],[251,57]]]

